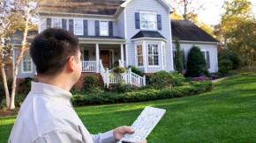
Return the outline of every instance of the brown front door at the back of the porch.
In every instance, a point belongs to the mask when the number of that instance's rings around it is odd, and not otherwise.
[[[112,67],[112,58],[111,58],[112,52],[109,50],[101,50],[100,52],[100,58],[102,60],[102,65],[104,68],[111,68]]]

